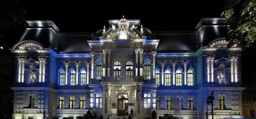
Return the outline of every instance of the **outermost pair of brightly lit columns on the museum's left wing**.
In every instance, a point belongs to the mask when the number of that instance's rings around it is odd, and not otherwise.
[[[24,83],[24,68],[25,68],[25,56],[20,56],[18,57],[18,62],[19,62],[19,72],[18,72],[18,82]]]

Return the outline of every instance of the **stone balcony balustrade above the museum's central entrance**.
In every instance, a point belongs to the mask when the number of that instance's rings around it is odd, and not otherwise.
[[[102,82],[143,82],[143,76],[102,76]]]

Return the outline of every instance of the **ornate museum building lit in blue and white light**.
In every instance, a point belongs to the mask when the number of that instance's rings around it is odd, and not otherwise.
[[[194,31],[151,32],[140,20],[108,20],[95,33],[61,33],[52,21],[27,21],[16,54],[14,119],[98,115],[138,119],[243,117],[241,47],[227,47],[224,18]],[[102,25],[103,26],[103,25]],[[126,110],[123,113],[122,110]]]

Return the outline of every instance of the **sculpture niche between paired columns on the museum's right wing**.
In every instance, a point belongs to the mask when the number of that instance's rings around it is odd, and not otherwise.
[[[214,62],[216,63],[215,69],[217,70],[218,82],[220,84],[228,83],[228,79],[226,77],[226,76],[228,76],[228,74],[226,74],[227,73],[226,71],[229,69],[228,64],[229,64],[230,60],[228,58],[221,57],[220,59],[215,60]]]

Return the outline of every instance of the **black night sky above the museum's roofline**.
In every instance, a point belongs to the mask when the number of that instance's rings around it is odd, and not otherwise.
[[[194,30],[201,18],[220,17],[225,0],[179,0],[173,2],[80,0],[20,0],[26,10],[26,20],[53,20],[60,32],[96,32],[108,20],[140,19],[144,27],[154,31]],[[11,48],[24,33],[9,31],[4,39]],[[245,61],[243,61],[245,62]],[[250,72],[250,74],[256,74]],[[246,76],[247,77],[247,76]],[[251,77],[251,75],[249,76]]]

